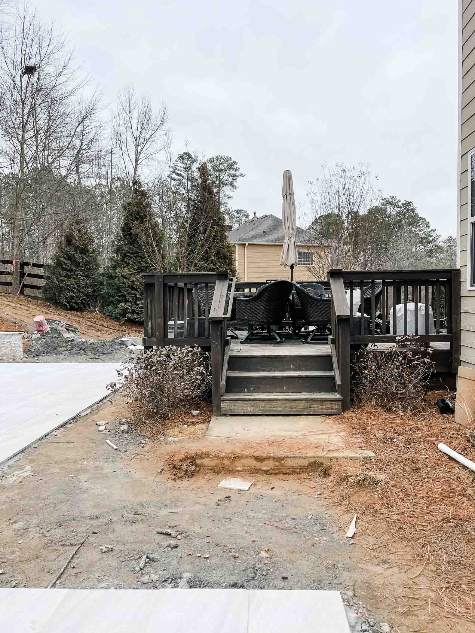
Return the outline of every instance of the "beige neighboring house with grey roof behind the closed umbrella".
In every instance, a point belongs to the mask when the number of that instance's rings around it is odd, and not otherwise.
[[[290,269],[280,265],[284,229],[282,218],[275,215],[262,215],[244,222],[228,234],[234,245],[236,270],[241,281],[262,282],[267,279],[290,279]],[[326,270],[315,272],[318,253],[308,231],[296,229],[298,265],[294,269],[296,281],[326,280]],[[308,268],[312,266],[313,270]],[[318,266],[317,266],[318,268]]]

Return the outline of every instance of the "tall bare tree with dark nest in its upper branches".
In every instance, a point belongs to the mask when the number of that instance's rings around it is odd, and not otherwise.
[[[65,36],[28,6],[15,6],[0,32],[0,168],[14,185],[4,218],[13,260],[33,234],[40,241],[54,234],[58,218],[46,213],[52,199],[89,173],[100,94],[85,98],[88,83]],[[15,289],[18,276],[13,282]]]

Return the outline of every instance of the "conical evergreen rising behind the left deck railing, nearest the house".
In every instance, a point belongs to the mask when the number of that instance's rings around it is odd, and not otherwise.
[[[206,162],[198,167],[198,182],[190,214],[187,237],[188,272],[231,270],[235,273],[232,245],[227,239],[217,190]]]

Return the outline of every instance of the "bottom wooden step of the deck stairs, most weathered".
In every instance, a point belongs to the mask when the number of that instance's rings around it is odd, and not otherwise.
[[[226,393],[223,415],[333,415],[341,413],[334,392]]]

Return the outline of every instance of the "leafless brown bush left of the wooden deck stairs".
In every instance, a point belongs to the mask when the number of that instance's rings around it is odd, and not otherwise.
[[[117,373],[117,386],[124,385],[136,422],[168,420],[203,398],[211,384],[209,354],[196,346],[169,346],[131,356]]]

